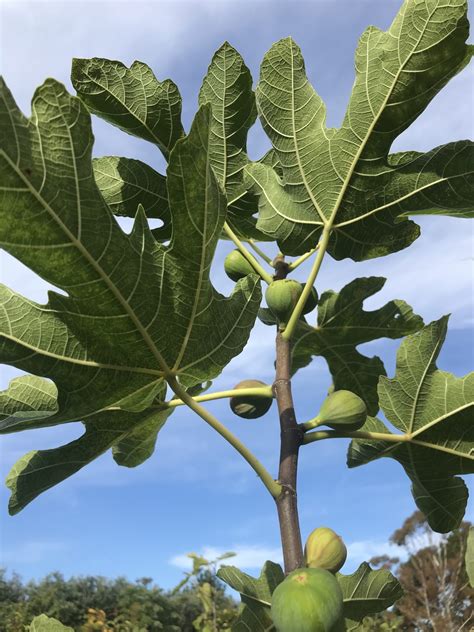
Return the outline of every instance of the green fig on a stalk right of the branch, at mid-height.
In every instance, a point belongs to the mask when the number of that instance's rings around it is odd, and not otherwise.
[[[351,391],[334,391],[326,397],[318,420],[334,430],[358,430],[367,419],[364,400]]]

